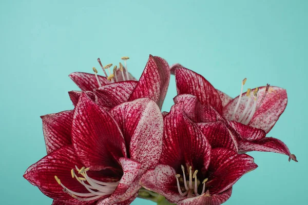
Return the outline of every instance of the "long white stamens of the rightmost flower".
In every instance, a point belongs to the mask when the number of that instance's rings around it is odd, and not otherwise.
[[[243,94],[243,87],[246,83],[246,80],[247,78],[244,78],[242,80],[242,87],[241,87],[241,93],[239,95],[239,98],[238,98],[238,101],[237,101],[237,104],[235,106],[235,109],[233,111],[233,114],[230,118],[230,120],[235,120],[235,114],[239,108],[239,105],[241,103],[241,100],[242,100],[242,94]],[[265,98],[265,95],[267,93],[269,89],[269,84],[266,85],[266,89],[265,89],[265,92],[262,96],[262,99],[260,100],[260,103],[259,105],[257,106],[257,102],[258,102],[258,91],[259,91],[259,88],[255,88],[254,91],[252,92],[252,90],[250,88],[247,89],[247,92],[246,92],[246,97],[248,97],[248,99],[246,99],[246,103],[245,103],[245,108],[243,110],[243,112],[241,113],[241,115],[239,116],[238,122],[241,122],[242,124],[244,125],[247,125],[253,118],[255,112],[258,110],[258,108],[261,106],[264,98]],[[252,103],[252,98],[254,100],[254,102]]]

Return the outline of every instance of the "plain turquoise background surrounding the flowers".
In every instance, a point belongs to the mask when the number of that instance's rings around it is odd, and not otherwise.
[[[298,163],[251,153],[259,168],[234,186],[232,204],[307,202],[307,1],[0,2],[0,204],[51,204],[22,175],[46,154],[40,115],[72,109],[74,71],[92,72],[128,55],[140,77],[149,54],[181,63],[230,96],[266,83],[288,105],[268,136]],[[176,95],[174,77],[163,110]],[[132,204],[153,204],[137,199]]]

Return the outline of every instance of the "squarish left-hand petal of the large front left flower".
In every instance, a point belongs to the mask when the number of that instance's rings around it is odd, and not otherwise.
[[[47,154],[71,144],[73,111],[41,116]]]

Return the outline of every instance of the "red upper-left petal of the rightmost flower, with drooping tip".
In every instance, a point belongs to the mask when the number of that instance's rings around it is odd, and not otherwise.
[[[222,112],[218,92],[203,76],[186,68],[177,68],[176,83],[179,95],[195,95],[202,105],[213,106],[219,113]]]

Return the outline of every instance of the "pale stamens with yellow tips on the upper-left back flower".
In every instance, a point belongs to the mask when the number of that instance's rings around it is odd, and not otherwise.
[[[125,80],[130,80],[130,79],[129,79],[129,73],[128,73],[128,70],[127,70],[127,64],[126,64],[126,60],[128,60],[129,57],[124,56],[124,57],[122,57],[121,59],[124,60],[124,65],[125,65],[125,67],[124,67],[121,63],[119,63],[119,65],[120,65],[119,70],[120,70],[120,72],[122,73],[123,81],[125,81]],[[117,76],[117,71],[118,71],[117,66],[114,66],[114,67],[113,67],[113,70],[112,70],[112,73],[111,73],[110,67],[112,66],[112,64],[108,64],[108,65],[106,65],[106,66],[103,66],[103,64],[102,64],[100,58],[98,58],[98,62],[99,62],[99,64],[100,64],[102,70],[104,71],[105,76],[107,77],[107,79],[108,79],[111,83],[114,83],[114,82],[118,82],[118,81],[119,81],[119,80],[118,80],[118,76]],[[107,74],[106,70],[108,70],[109,75]],[[125,77],[125,75],[124,75],[124,70],[126,71],[126,77]],[[95,74],[95,78],[97,79],[98,84],[99,84],[99,86],[101,87],[102,84],[101,84],[100,79],[99,79],[99,77],[98,77],[98,70],[97,70],[96,68],[93,67],[93,71],[94,71],[94,74]]]

